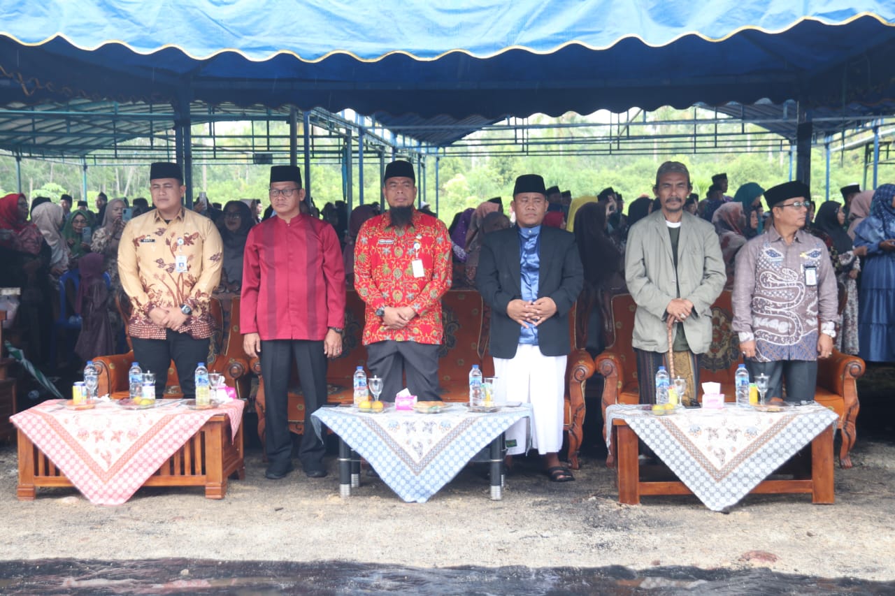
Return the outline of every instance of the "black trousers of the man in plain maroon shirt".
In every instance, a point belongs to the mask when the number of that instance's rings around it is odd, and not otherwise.
[[[324,470],[325,446],[311,424],[311,413],[327,401],[327,357],[323,353],[323,341],[262,341],[260,359],[261,376],[264,378],[264,442],[270,468],[285,469],[292,460],[286,392],[294,359],[304,396],[304,434],[298,447],[298,458],[305,472]]]

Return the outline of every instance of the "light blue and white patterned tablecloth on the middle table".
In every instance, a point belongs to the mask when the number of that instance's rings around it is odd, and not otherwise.
[[[312,413],[311,421],[319,436],[321,422],[333,430],[398,497],[425,503],[483,447],[516,421],[530,417],[527,404],[494,413],[473,413],[464,404],[451,404],[437,414],[325,407]]]

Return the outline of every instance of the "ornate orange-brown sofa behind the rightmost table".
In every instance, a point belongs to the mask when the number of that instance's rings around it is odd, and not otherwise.
[[[597,372],[605,377],[601,409],[603,420],[606,408],[611,404],[637,404],[637,364],[631,338],[634,332],[636,305],[630,294],[619,294],[612,299],[611,316],[614,337],[609,338],[606,350],[594,359]],[[700,383],[718,382],[725,401],[736,401],[734,374],[742,362],[739,339],[731,328],[733,310],[730,292],[724,291],[712,304],[712,345],[701,361]],[[840,466],[851,467],[849,453],[855,445],[855,421],[859,404],[857,401],[856,379],[864,374],[865,363],[857,356],[833,350],[831,358],[821,360],[817,367],[817,388],[814,399],[830,407],[839,414],[839,429],[842,446]],[[647,379],[646,382],[653,382]],[[697,395],[701,395],[702,389]],[[605,429],[603,430],[605,433]],[[607,464],[614,464],[613,454],[609,454]]]

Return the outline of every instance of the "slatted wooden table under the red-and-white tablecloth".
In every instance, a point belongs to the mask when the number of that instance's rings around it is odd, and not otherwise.
[[[227,479],[243,480],[243,425],[230,441],[230,419],[215,414],[143,486],[204,486],[206,498],[224,498]],[[19,430],[19,500],[33,500],[38,487],[72,487],[63,473]]]

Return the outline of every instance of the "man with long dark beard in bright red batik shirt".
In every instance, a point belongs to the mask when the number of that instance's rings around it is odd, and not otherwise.
[[[441,296],[451,283],[447,227],[413,208],[416,176],[406,161],[386,167],[388,212],[369,219],[354,245],[354,288],[366,302],[367,365],[382,378],[382,397],[406,387],[440,401]]]

